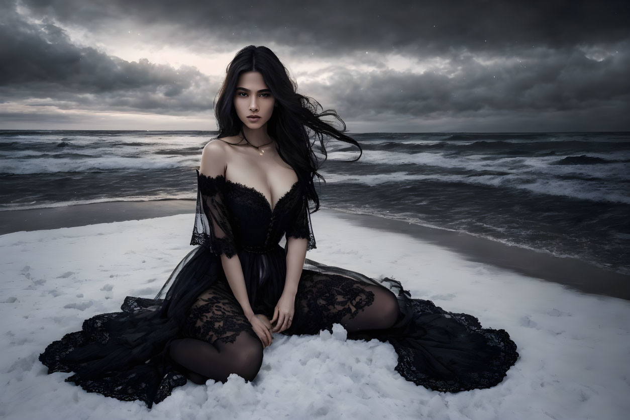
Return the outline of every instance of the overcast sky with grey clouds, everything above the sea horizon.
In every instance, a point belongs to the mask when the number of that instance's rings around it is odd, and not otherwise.
[[[628,3],[0,0],[0,129],[215,130],[253,44],[350,132],[627,131]]]

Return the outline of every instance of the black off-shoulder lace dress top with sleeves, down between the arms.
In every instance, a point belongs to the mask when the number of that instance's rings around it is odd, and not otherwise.
[[[306,238],[316,247],[308,200],[295,182],[275,205],[255,188],[230,181],[224,175],[207,176],[197,169],[197,212],[191,245],[202,245],[212,256],[239,256],[249,301],[266,283],[264,300],[277,302],[286,274],[284,235]]]

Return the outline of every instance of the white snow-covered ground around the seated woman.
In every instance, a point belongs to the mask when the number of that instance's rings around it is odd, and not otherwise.
[[[0,236],[0,417],[8,419],[625,419],[630,302],[471,263],[400,234],[312,215],[307,258],[389,276],[413,298],[505,329],[520,358],[492,389],[446,394],[396,371],[388,343],[276,334],[258,377],[188,382],[149,411],[47,375],[38,355],[84,319],[154,297],[192,246],[192,215]]]

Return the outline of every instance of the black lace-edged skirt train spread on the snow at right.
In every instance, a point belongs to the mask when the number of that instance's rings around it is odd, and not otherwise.
[[[395,370],[406,380],[441,392],[486,389],[502,382],[518,360],[517,346],[504,329],[482,328],[473,315],[411,298],[393,278],[379,282],[398,291],[405,314],[399,317],[401,325],[350,332],[348,339],[375,338],[392,344],[398,354]]]

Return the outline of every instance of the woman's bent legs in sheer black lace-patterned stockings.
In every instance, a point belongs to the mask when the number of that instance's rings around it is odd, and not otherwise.
[[[320,287],[323,286],[322,283],[319,285]],[[357,285],[354,284],[353,287],[357,288]],[[396,322],[399,313],[398,300],[394,293],[375,285],[361,285],[360,287],[362,290],[357,289],[360,294],[355,295],[354,299],[348,299],[348,294],[356,292],[351,293],[349,292],[350,289],[347,288],[345,292],[339,293],[334,305],[331,305],[331,302],[319,302],[319,312],[328,311],[326,313],[328,322],[330,319],[338,319],[338,317],[335,318],[334,312],[338,312],[337,315],[342,312],[345,313],[346,315],[338,322],[348,332],[391,327]],[[231,373],[236,373],[246,380],[253,380],[262,365],[263,344],[257,336],[253,336],[255,334],[253,330],[234,331],[237,329],[235,321],[238,317],[243,318],[241,325],[246,325],[248,329],[251,329],[251,324],[244,315],[235,313],[235,311],[238,312],[239,306],[231,308],[233,310],[227,310],[230,305],[239,305],[236,298],[232,297],[233,302],[228,302],[226,295],[222,295],[222,299],[219,299],[219,295],[221,295],[219,290],[209,290],[208,292],[205,293],[204,300],[200,300],[193,308],[198,309],[197,312],[199,312],[202,307],[205,307],[204,314],[196,314],[195,310],[191,312],[197,320],[192,319],[191,321],[193,326],[197,326],[197,328],[190,331],[196,333],[191,333],[190,338],[173,340],[170,347],[171,358],[189,371],[187,376],[195,383],[205,383],[208,378],[226,382]],[[374,293],[373,300],[370,292]],[[307,293],[302,295],[304,302],[309,299],[306,295]],[[307,307],[304,302],[298,302],[298,298],[296,298],[294,317],[296,321],[299,317],[309,320],[314,318],[314,315],[307,312],[298,313],[302,308]],[[212,308],[208,305],[212,305]],[[217,310],[219,308],[221,310]],[[225,315],[225,319],[220,316],[221,314]],[[202,323],[203,327],[198,327]],[[226,328],[227,326],[231,328]],[[287,332],[292,334],[305,333],[295,331],[297,327],[298,324],[295,325],[295,329],[292,328],[291,331]],[[321,329],[325,327],[321,325]],[[226,334],[226,329],[231,334]],[[212,341],[212,344],[209,341]]]

